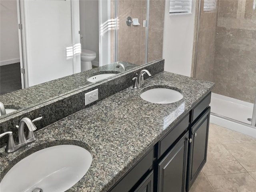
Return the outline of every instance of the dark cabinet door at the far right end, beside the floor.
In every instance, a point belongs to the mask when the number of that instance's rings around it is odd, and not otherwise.
[[[190,154],[189,154],[189,183],[188,189],[196,180],[199,172],[206,163],[207,144],[208,144],[208,130],[210,120],[210,107],[202,117],[191,128],[190,138]]]

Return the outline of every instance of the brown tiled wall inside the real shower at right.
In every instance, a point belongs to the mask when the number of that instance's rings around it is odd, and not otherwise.
[[[256,92],[253,0],[219,0],[218,6],[215,28],[216,13],[200,15],[196,78],[215,82],[214,93],[253,103]]]

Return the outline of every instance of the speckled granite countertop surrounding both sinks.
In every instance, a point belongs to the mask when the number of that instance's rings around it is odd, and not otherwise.
[[[68,191],[107,191],[214,86],[169,72],[156,74],[145,83],[174,86],[184,97],[172,104],[153,104],[140,98],[141,89],[129,87],[38,130],[36,142],[24,149],[7,154],[1,148],[1,178],[33,151],[56,144],[77,144],[88,149],[93,160],[86,175]]]

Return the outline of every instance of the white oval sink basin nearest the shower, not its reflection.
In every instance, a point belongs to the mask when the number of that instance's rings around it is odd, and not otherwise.
[[[144,88],[144,90],[142,89],[140,97],[151,103],[168,104],[181,100],[183,98],[183,94],[174,87],[154,88],[154,86],[152,86],[152,88],[147,87]]]

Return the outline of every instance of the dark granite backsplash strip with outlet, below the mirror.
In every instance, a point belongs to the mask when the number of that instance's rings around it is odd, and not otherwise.
[[[23,110],[6,118],[0,119],[0,133],[6,131],[12,131],[14,133],[14,138],[17,137],[18,130],[15,128],[15,125],[18,125],[20,120],[24,117],[30,119],[43,116],[43,119],[36,122],[38,130],[43,128],[53,122],[56,122],[70,114],[73,114],[79,110],[82,110],[88,106],[84,105],[84,94],[90,92],[94,89],[99,90],[99,99],[98,101],[107,98],[121,90],[124,90],[134,84],[132,78],[136,76],[136,73],[139,73],[140,70],[147,69],[151,72],[152,75],[158,74],[164,70],[164,60],[157,60],[150,62],[148,64],[139,66],[134,69],[127,70],[126,72],[120,73],[111,78],[102,80],[100,82],[86,86],[85,88],[78,89],[64,96],[60,96],[56,99],[50,100],[48,102],[42,103],[35,107]],[[145,76],[147,78],[148,76]],[[7,142],[7,137],[3,137],[0,140],[1,147]]]

